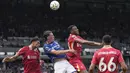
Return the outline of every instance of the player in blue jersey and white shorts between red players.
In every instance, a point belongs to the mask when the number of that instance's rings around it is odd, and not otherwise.
[[[67,61],[66,53],[75,53],[74,50],[64,50],[58,42],[54,40],[52,31],[45,31],[44,51],[54,63],[55,73],[77,73],[75,68]]]

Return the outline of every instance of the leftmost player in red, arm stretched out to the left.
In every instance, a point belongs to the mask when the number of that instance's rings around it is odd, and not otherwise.
[[[38,47],[40,41],[33,38],[29,46],[21,48],[14,56],[6,57],[3,62],[15,61],[19,56],[23,57],[24,73],[41,73],[40,68],[40,51]]]

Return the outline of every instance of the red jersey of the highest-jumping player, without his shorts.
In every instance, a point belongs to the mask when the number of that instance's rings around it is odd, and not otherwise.
[[[68,47],[69,49],[74,49],[76,50],[76,54],[74,53],[67,53],[68,58],[71,60],[74,59],[81,59],[80,54],[82,51],[82,45],[78,42],[75,42],[76,39],[82,39],[80,36],[76,36],[73,34],[70,34],[69,38],[68,38]]]

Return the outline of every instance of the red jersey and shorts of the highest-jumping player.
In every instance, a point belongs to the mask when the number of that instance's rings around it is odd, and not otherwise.
[[[73,34],[70,34],[68,38],[68,47],[69,49],[74,49],[76,53],[67,53],[67,57],[69,59],[69,62],[73,67],[78,71],[86,70],[85,65],[82,63],[82,59],[80,57],[81,51],[82,51],[82,45],[81,43],[75,42],[77,39],[82,39],[80,36],[76,36]]]

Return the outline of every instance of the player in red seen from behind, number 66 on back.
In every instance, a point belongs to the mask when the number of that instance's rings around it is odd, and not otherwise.
[[[111,46],[111,36],[103,36],[102,41],[104,46],[94,53],[89,73],[94,73],[93,69],[95,66],[99,69],[98,73],[118,73],[118,64],[121,65],[123,70],[121,73],[126,73],[127,66],[121,52]]]

